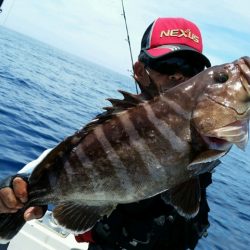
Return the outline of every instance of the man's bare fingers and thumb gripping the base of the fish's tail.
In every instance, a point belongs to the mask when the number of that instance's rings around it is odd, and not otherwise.
[[[14,178],[13,189],[4,187],[0,189],[0,213],[16,213],[28,200],[28,184],[21,177]],[[42,217],[44,211],[41,207],[30,207],[24,213],[26,221]]]

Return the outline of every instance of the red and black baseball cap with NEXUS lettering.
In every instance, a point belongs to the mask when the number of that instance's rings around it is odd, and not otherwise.
[[[141,42],[141,53],[152,60],[186,54],[210,67],[211,63],[202,54],[202,49],[199,28],[184,18],[156,19],[145,31]]]

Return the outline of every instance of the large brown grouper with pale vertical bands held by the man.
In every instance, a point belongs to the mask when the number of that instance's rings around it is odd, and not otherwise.
[[[232,145],[244,149],[250,118],[250,58],[206,69],[147,98],[120,91],[112,107],[67,137],[34,169],[29,201],[0,215],[0,238],[24,225],[28,206],[53,204],[53,216],[74,232],[90,229],[117,204],[162,193],[186,218],[199,210],[199,174]]]

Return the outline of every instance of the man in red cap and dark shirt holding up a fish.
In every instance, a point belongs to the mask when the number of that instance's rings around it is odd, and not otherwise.
[[[182,18],[158,18],[145,31],[134,65],[134,78],[141,89],[139,96],[150,99],[154,93],[152,86],[157,86],[160,92],[167,90],[205,67],[210,67],[210,62],[202,54],[198,27]],[[118,205],[108,218],[104,217],[91,231],[76,239],[90,242],[90,250],[193,249],[209,226],[206,187],[210,183],[210,173],[200,176],[201,208],[191,220],[181,217],[159,194]],[[0,213],[14,213],[27,201],[27,183],[22,177],[8,180],[1,187]],[[35,207],[27,209],[24,216],[29,220],[42,215],[43,209]]]

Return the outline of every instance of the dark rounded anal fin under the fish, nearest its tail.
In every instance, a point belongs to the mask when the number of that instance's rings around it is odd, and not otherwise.
[[[53,217],[60,225],[75,233],[83,233],[91,229],[104,215],[109,215],[114,206],[89,206],[73,202],[65,202],[55,207]]]

